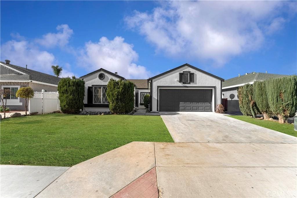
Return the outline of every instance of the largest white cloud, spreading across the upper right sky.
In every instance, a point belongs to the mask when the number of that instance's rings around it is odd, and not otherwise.
[[[282,27],[277,15],[288,5],[282,1],[170,1],[152,13],[135,11],[125,21],[157,51],[223,65],[232,56],[261,47],[268,24],[269,32]]]

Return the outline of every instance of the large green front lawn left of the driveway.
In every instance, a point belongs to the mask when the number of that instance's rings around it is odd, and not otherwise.
[[[1,164],[72,166],[133,141],[173,142],[160,116],[46,114],[1,120]]]

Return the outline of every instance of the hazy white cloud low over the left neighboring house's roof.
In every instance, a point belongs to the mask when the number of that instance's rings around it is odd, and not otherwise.
[[[1,45],[1,60],[9,59],[11,64],[49,73],[55,56],[39,50],[26,40],[10,40]]]

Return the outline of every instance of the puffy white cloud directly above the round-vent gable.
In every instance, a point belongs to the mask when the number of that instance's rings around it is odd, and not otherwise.
[[[104,68],[125,78],[148,78],[151,73],[146,67],[135,64],[137,60],[133,45],[125,43],[122,37],[113,40],[101,37],[97,43],[89,41],[79,57],[80,65],[89,71]]]

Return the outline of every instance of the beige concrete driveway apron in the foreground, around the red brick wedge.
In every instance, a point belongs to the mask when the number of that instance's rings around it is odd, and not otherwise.
[[[154,166],[163,197],[294,197],[296,156],[296,144],[132,142],[72,166],[37,197],[111,197]]]

